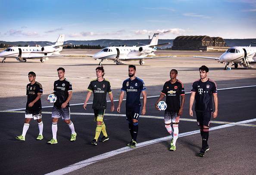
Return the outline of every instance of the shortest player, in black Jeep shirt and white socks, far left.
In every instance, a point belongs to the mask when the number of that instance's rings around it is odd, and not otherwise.
[[[20,141],[25,141],[25,136],[29,128],[29,123],[32,118],[37,120],[39,135],[37,140],[42,140],[43,137],[43,121],[42,121],[42,104],[41,104],[41,95],[43,93],[43,87],[40,83],[35,81],[36,74],[34,72],[28,73],[29,84],[27,85],[27,104],[25,111],[25,123],[23,126],[22,135],[16,136],[15,138]]]

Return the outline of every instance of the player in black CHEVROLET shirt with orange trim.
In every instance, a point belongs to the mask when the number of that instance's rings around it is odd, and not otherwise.
[[[170,71],[171,80],[165,82],[162,92],[156,101],[155,107],[157,110],[160,110],[158,107],[158,102],[166,95],[166,104],[167,108],[165,110],[165,128],[172,135],[170,150],[176,150],[176,141],[178,139],[178,124],[180,121],[180,116],[183,114],[183,107],[185,102],[185,90],[184,86],[180,80],[177,80],[178,71],[172,69]],[[181,102],[180,102],[181,96]],[[172,126],[171,126],[172,123]],[[173,129],[172,129],[173,128]]]

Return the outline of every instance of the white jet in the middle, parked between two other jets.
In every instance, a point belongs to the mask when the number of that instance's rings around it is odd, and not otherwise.
[[[102,65],[103,60],[112,60],[116,64],[124,64],[122,61],[139,61],[140,65],[144,64],[144,59],[152,58],[167,58],[176,56],[156,56],[154,52],[158,46],[165,46],[170,43],[158,44],[159,33],[154,33],[150,44],[141,44],[141,46],[111,46],[105,47],[100,52],[93,55],[95,60],[100,61],[99,65]],[[148,55],[150,57],[148,57]]]

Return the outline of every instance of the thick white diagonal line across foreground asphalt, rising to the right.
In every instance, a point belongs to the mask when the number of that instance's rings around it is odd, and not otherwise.
[[[256,121],[256,118],[255,119],[251,119],[251,120],[240,121],[240,122],[237,122],[237,123],[242,124],[242,123],[250,123],[250,122],[255,122],[255,121]],[[230,127],[230,126],[234,126],[234,125],[226,124],[226,125],[221,125],[221,126],[215,126],[215,127],[210,128],[210,130],[212,131],[212,130],[216,130],[216,129],[227,128],[227,127]],[[198,133],[200,133],[200,130],[184,132],[184,133],[179,134],[179,137],[184,137],[184,136],[187,136],[187,135],[194,135],[194,134],[198,134]],[[122,154],[122,153],[125,153],[127,151],[137,149],[139,147],[144,147],[144,146],[147,146],[147,145],[150,145],[150,144],[155,144],[155,143],[158,143],[158,142],[161,142],[161,141],[170,140],[170,139],[171,139],[171,136],[166,136],[166,137],[156,138],[154,140],[144,141],[142,143],[138,143],[136,145],[136,148],[122,147],[120,149],[109,151],[107,153],[100,154],[100,155],[95,156],[95,157],[91,157],[91,158],[83,160],[81,162],[74,163],[74,164],[72,164],[70,166],[67,166],[65,168],[56,170],[54,172],[50,172],[50,173],[48,173],[46,175],[63,175],[63,174],[75,171],[77,169],[83,168],[85,166],[91,165],[92,163],[96,163],[96,162],[98,162],[100,160],[103,160],[103,159],[115,156],[117,154]]]

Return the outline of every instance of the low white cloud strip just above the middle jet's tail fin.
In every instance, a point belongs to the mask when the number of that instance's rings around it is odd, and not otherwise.
[[[158,29],[156,31],[148,31],[148,30],[138,30],[135,31],[134,33],[137,35],[141,35],[141,34],[153,34],[154,32],[158,32],[159,34],[184,34],[185,30],[181,29],[181,28],[171,28],[171,29]]]

